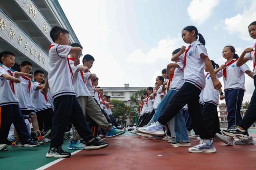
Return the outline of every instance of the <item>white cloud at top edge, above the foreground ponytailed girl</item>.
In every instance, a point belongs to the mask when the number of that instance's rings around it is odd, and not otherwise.
[[[188,15],[194,22],[202,24],[214,14],[213,9],[219,2],[220,0],[192,0],[187,8]]]

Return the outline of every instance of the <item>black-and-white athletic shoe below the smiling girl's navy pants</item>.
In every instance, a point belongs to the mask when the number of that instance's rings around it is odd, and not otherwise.
[[[230,127],[230,129],[223,130],[222,132],[223,132],[224,135],[227,135],[227,136],[230,136],[230,137],[237,137],[237,138],[240,138],[240,139],[248,139],[247,131],[241,129],[237,125],[233,125],[232,127]]]

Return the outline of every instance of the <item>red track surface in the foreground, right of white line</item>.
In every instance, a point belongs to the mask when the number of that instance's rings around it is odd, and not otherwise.
[[[256,139],[256,135],[252,135]],[[256,169],[256,145],[227,146],[215,142],[216,153],[189,153],[189,147],[172,147],[162,140],[142,141],[140,136],[105,139],[102,150],[82,150],[48,169],[166,170],[166,169]],[[191,141],[195,146],[198,141]]]

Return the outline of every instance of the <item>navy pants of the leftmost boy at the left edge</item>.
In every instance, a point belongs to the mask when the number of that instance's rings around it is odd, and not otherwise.
[[[11,124],[14,124],[22,145],[31,138],[26,123],[22,117],[19,105],[5,105],[0,107],[0,144],[7,141]]]

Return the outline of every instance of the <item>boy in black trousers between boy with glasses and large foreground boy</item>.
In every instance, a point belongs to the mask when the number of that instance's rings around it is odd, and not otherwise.
[[[36,116],[38,120],[38,126],[40,131],[48,131],[52,129],[52,117],[54,115],[54,111],[52,109],[52,105],[50,104],[47,95],[43,95],[39,90],[41,90],[44,85],[42,85],[42,81],[44,81],[44,71],[36,70],[34,72],[34,84],[32,93],[32,100],[35,106]],[[46,139],[47,140],[47,139]],[[48,140],[45,142],[49,142]]]

